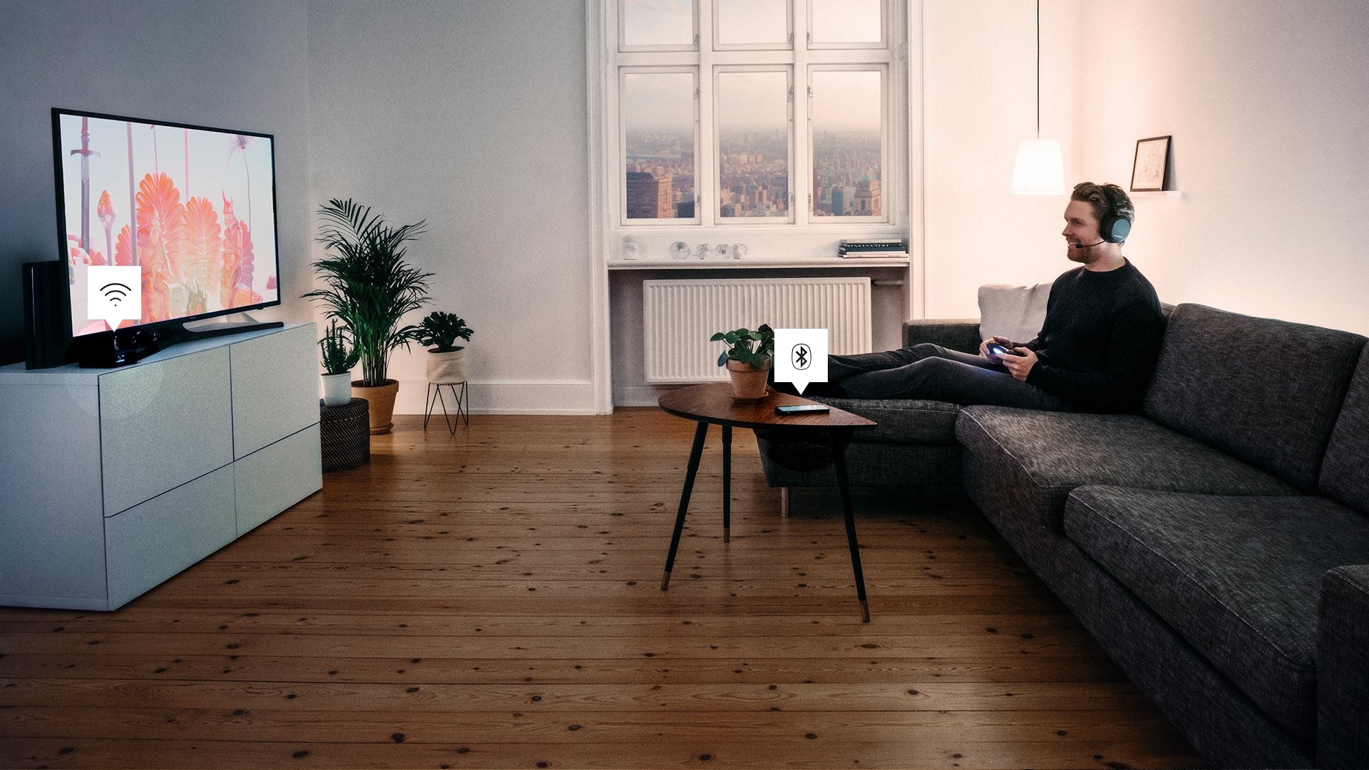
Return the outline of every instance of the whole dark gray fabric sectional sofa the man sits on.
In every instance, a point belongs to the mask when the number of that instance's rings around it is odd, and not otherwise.
[[[906,325],[919,341],[979,333]],[[1210,763],[1366,767],[1365,343],[1181,304],[1140,414],[824,400],[880,422],[853,484],[961,485]],[[813,451],[757,441],[772,485],[828,484]]]

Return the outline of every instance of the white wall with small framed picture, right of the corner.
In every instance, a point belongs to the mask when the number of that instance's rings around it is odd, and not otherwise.
[[[1127,253],[1161,299],[1369,334],[1369,3],[1084,3],[1083,166],[1173,134]]]

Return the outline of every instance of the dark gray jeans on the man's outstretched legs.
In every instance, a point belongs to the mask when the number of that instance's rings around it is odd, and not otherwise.
[[[827,380],[824,392],[852,399],[927,399],[961,406],[1073,410],[1065,399],[1016,380],[1001,364],[930,343],[879,353],[830,355]]]

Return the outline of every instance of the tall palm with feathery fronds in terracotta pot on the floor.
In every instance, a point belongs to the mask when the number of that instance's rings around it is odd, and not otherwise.
[[[352,395],[370,404],[371,433],[389,433],[400,389],[386,375],[390,353],[418,338],[418,326],[400,322],[427,301],[427,280],[433,275],[405,262],[405,244],[416,240],[427,222],[396,227],[352,199],[330,200],[319,208],[319,216],[323,225],[318,241],[327,255],[314,263],[314,270],[324,288],[304,296],[322,301],[324,314],[342,322],[350,334],[361,362],[361,378],[352,382]]]

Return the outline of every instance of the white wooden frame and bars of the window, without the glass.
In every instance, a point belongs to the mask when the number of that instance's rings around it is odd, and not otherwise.
[[[708,30],[704,40],[691,47],[626,47],[622,42],[622,0],[587,0],[597,7],[591,14],[602,25],[600,47],[590,51],[591,78],[597,78],[604,115],[602,132],[591,137],[590,155],[602,181],[594,185],[604,196],[602,208],[608,214],[600,243],[611,252],[623,237],[648,234],[671,240],[727,241],[731,236],[767,232],[784,237],[784,251],[793,253],[830,253],[838,238],[850,237],[909,237],[909,218],[916,212],[910,206],[910,144],[908,5],[920,8],[917,0],[882,0],[882,27],[886,44],[820,44],[806,45],[808,23],[812,16],[808,0],[790,0],[790,23],[795,45],[778,49],[761,45],[715,45],[716,0],[694,0],[694,27]],[[809,100],[805,96],[810,71],[852,64],[853,69],[882,66],[883,88],[883,170],[880,173],[882,216],[815,216],[812,214],[812,185],[798,179],[812,178],[812,137],[808,119]],[[720,179],[717,155],[716,73],[734,67],[790,69],[794,97],[790,101],[790,216],[720,218]],[[623,132],[620,88],[622,71],[693,69],[697,71],[698,95],[697,133],[694,148],[694,219],[627,219],[626,218],[626,137]],[[593,73],[598,73],[594,75]],[[591,110],[596,105],[591,104]],[[799,133],[802,132],[802,133]],[[809,245],[804,245],[809,244]],[[615,259],[609,253],[609,260]]]

